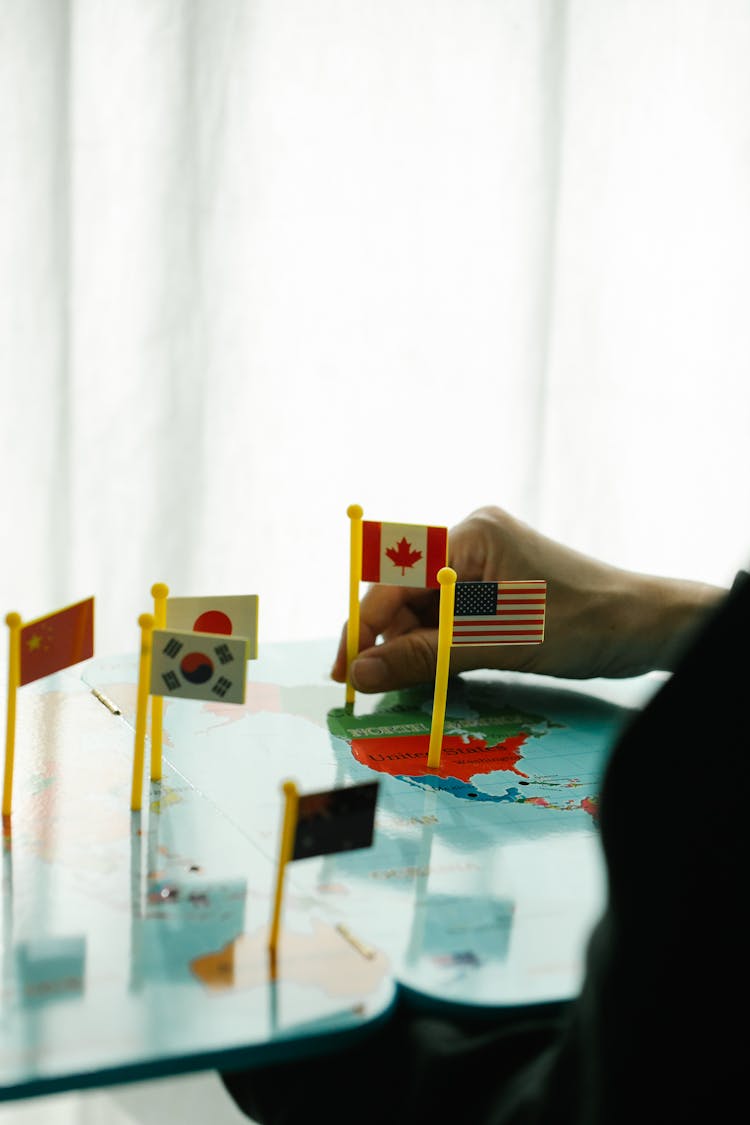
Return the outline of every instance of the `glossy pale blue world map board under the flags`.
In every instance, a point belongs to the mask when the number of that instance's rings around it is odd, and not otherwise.
[[[575,993],[604,894],[602,771],[653,684],[458,677],[430,770],[430,685],[347,708],[332,652],[263,647],[242,704],[165,700],[163,776],[146,778],[138,813],[135,655],[19,694],[7,1087],[166,1073],[186,1054],[272,1058],[365,1027],[398,991],[482,1008]],[[377,778],[379,795],[371,847],[287,865],[271,981],[288,778],[300,793]]]

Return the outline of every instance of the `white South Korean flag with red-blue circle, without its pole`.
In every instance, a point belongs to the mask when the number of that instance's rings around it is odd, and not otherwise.
[[[151,694],[244,703],[246,644],[244,637],[154,629]]]

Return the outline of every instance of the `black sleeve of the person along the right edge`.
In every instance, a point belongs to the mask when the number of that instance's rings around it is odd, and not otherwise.
[[[600,796],[608,896],[534,1122],[730,1122],[747,1087],[750,576],[626,729]],[[563,1119],[568,1119],[564,1117]]]

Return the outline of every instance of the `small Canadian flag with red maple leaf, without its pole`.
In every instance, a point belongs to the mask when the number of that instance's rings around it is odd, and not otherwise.
[[[362,521],[362,582],[437,590],[448,564],[448,528]]]

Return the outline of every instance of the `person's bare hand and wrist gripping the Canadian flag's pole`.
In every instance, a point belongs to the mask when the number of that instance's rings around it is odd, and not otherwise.
[[[687,632],[724,593],[600,562],[494,506],[478,508],[451,530],[449,561],[460,582],[548,583],[541,645],[453,647],[451,674],[498,668],[579,680],[668,669]],[[434,680],[439,604],[439,591],[387,585],[367,591],[360,652],[350,669],[356,691]],[[331,675],[346,681],[346,626]]]

